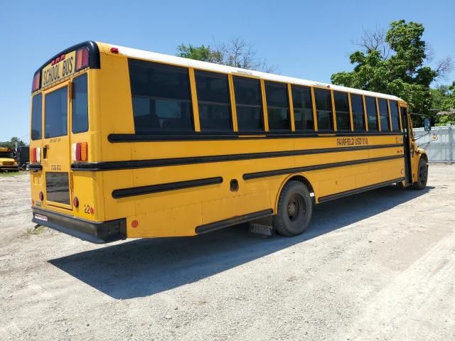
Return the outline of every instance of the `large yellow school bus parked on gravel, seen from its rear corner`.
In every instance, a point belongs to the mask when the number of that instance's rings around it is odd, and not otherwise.
[[[93,41],[36,71],[30,151],[33,222],[97,243],[294,236],[320,202],[427,183],[398,97]]]

